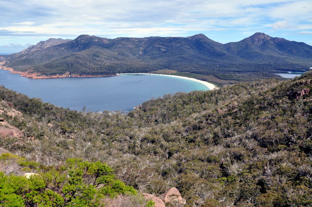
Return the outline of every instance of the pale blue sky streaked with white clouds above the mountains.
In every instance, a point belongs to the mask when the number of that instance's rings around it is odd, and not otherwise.
[[[256,32],[312,45],[312,0],[0,0],[0,54],[81,34],[227,43]]]

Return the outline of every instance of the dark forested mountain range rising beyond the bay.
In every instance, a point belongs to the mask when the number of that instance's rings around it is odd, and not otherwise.
[[[204,75],[275,73],[312,66],[312,46],[257,32],[239,42],[221,44],[203,34],[190,37],[80,35],[49,39],[22,52],[0,56],[4,66],[37,75],[114,75],[173,69]]]

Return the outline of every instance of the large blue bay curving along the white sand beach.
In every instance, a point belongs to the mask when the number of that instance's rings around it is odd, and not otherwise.
[[[73,110],[125,112],[164,94],[208,90],[192,80],[161,75],[30,79],[7,70],[0,70],[0,85]]]

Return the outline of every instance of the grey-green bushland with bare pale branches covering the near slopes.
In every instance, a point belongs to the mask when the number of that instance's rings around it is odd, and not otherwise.
[[[1,87],[0,99],[23,114],[2,116],[33,138],[0,147],[44,166],[105,162],[140,192],[178,188],[185,206],[311,206],[311,79],[168,94],[126,115],[71,111]]]

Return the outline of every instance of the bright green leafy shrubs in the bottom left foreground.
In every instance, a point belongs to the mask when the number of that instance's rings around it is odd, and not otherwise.
[[[63,165],[43,166],[11,153],[4,153],[0,156],[0,163],[1,206],[95,207],[105,206],[109,198],[118,195],[127,195],[133,200],[137,195],[133,187],[115,179],[112,168],[100,161],[68,158]],[[28,176],[12,175],[12,171],[16,173],[17,168],[20,172],[38,173]],[[137,198],[137,202],[133,204],[145,206],[144,198]]]

